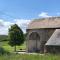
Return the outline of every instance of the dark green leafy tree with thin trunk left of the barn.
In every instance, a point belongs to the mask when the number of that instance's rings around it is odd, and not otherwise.
[[[19,46],[22,43],[24,43],[23,31],[17,24],[11,26],[11,28],[9,29],[8,37],[9,37],[9,45],[15,46],[15,51],[16,51],[16,45]]]

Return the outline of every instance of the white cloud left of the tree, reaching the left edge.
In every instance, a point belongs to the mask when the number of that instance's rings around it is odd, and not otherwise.
[[[12,25],[12,22],[4,21],[0,19],[0,35],[8,34],[8,28]]]

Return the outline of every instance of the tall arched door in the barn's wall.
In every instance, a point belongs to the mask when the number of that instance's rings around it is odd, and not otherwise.
[[[30,39],[32,40],[32,44],[30,45],[33,52],[39,52],[40,51],[40,36],[37,32],[32,32],[30,34]]]

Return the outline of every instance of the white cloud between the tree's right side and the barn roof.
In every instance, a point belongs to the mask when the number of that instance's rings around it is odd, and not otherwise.
[[[25,20],[25,19],[15,19],[14,21],[17,25],[21,27],[24,33],[26,32],[28,24],[31,22],[31,20]]]

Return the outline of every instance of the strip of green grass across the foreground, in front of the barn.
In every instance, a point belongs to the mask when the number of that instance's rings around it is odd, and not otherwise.
[[[11,55],[1,55],[0,60],[60,60],[60,55],[32,55],[32,54],[11,54]]]

